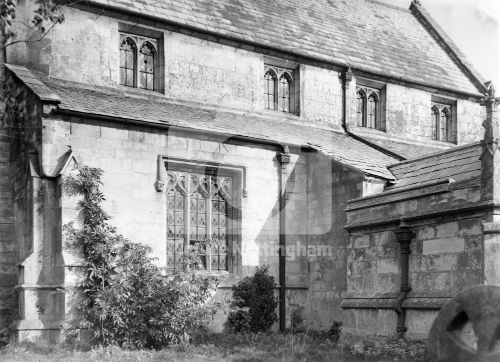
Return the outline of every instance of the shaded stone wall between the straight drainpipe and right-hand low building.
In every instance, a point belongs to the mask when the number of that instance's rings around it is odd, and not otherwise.
[[[333,321],[343,320],[340,303],[347,290],[343,210],[347,200],[361,196],[364,176],[320,154],[309,160],[307,244],[316,250],[307,258],[310,323],[313,329],[328,329]]]

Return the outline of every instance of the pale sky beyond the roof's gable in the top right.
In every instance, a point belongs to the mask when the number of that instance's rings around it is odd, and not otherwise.
[[[410,0],[380,0],[408,8]],[[420,0],[500,95],[500,0]]]

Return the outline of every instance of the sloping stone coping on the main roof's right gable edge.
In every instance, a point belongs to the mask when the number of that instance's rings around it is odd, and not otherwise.
[[[460,70],[472,81],[476,88],[481,93],[486,92],[486,86],[484,85],[485,79],[483,76],[474,68],[465,54],[463,54],[454,41],[451,40],[446,31],[437,23],[427,9],[421,5],[420,1],[412,0],[409,9],[411,14],[413,14],[422,26],[429,30],[431,35],[444,47],[444,50],[451,60],[453,60],[458,68],[460,68]]]

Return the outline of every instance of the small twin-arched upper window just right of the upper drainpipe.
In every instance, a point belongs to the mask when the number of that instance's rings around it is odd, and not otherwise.
[[[356,125],[383,130],[380,113],[380,90],[356,87]]]

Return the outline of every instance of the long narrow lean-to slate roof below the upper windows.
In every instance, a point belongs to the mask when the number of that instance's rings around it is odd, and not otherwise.
[[[46,83],[61,103],[59,110],[111,116],[231,136],[245,136],[288,145],[310,146],[332,159],[350,165],[366,174],[393,180],[386,165],[397,161],[345,133],[292,123],[281,114],[269,117],[235,113],[228,110],[181,104],[161,96],[123,95],[109,88],[80,88],[75,85]],[[277,112],[276,112],[277,113]],[[365,155],[366,157],[359,157]]]

